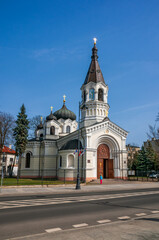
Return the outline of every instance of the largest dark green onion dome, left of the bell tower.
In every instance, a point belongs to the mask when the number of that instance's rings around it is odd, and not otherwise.
[[[54,116],[58,119],[62,118],[62,119],[71,119],[71,120],[76,120],[76,115],[70,111],[69,109],[67,109],[65,102],[62,106],[61,109],[59,109],[58,111],[54,112]]]

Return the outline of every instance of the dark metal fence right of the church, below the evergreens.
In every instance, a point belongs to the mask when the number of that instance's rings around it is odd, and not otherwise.
[[[159,173],[155,171],[128,170],[129,181],[158,182]]]

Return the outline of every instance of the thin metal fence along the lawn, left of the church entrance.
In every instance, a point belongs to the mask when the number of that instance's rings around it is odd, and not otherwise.
[[[0,173],[1,175],[1,173]],[[77,179],[77,169],[49,169],[49,170],[21,170],[20,178],[9,176],[4,172],[1,177],[1,185],[56,185],[56,184],[75,184]],[[80,169],[81,182],[85,182],[85,169]]]

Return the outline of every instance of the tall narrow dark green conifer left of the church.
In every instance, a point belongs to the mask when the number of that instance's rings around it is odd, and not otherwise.
[[[29,120],[27,119],[26,109],[24,104],[20,108],[20,112],[17,116],[16,127],[14,128],[14,137],[15,137],[15,148],[16,153],[19,156],[18,161],[18,179],[20,178],[21,170],[21,156],[26,149],[26,144],[28,141],[28,129],[29,129]]]

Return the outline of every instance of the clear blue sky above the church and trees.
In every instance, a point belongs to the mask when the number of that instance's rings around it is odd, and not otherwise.
[[[0,111],[78,115],[80,87],[98,39],[109,118],[142,145],[159,112],[158,0],[0,0]]]

